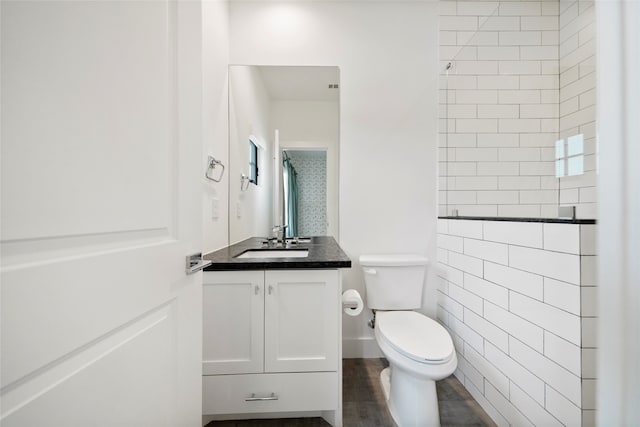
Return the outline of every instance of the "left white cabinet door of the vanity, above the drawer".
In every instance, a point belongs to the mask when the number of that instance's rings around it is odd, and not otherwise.
[[[263,371],[264,271],[204,273],[204,375]]]

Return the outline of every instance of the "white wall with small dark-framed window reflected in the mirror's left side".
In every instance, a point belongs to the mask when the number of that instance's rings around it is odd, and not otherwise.
[[[249,138],[258,145],[258,185],[240,189],[249,176]],[[234,66],[229,72],[229,243],[269,236],[272,214],[273,132],[271,99],[256,67]]]

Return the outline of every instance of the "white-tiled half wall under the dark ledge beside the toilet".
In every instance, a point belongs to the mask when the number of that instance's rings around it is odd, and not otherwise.
[[[438,220],[438,320],[500,426],[595,422],[595,227]]]

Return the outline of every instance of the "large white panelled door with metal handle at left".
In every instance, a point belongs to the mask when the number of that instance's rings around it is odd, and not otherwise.
[[[199,5],[0,7],[0,423],[199,425]]]

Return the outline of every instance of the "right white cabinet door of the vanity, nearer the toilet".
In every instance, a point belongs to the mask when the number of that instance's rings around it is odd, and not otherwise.
[[[265,372],[335,371],[338,270],[265,273]]]

